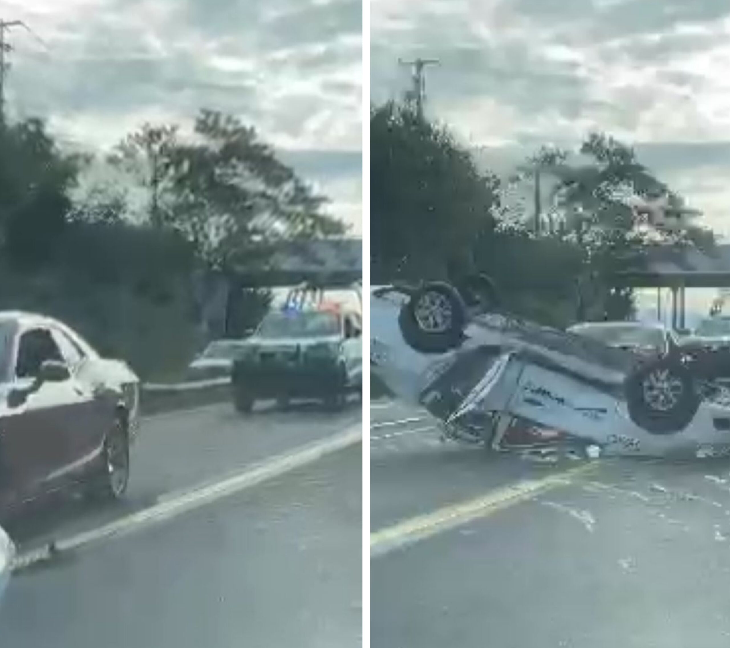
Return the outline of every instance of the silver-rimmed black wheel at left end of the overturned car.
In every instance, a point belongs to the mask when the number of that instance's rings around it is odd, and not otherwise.
[[[423,353],[443,353],[461,344],[466,304],[451,285],[429,282],[401,306],[398,322],[410,347]]]

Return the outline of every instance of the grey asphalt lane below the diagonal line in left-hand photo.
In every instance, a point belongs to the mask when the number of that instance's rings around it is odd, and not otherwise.
[[[19,574],[0,606],[0,645],[361,645],[361,457],[350,447]]]

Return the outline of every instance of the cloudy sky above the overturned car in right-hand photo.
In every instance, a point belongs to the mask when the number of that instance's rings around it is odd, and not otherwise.
[[[371,0],[372,101],[401,96],[399,58],[437,58],[428,110],[488,147],[500,174],[591,128],[730,235],[728,0]]]

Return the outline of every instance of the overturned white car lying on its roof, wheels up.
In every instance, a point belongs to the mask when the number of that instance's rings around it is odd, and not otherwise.
[[[447,436],[504,450],[515,420],[605,454],[730,453],[727,390],[673,350],[641,358],[499,313],[486,277],[372,290],[371,368]]]

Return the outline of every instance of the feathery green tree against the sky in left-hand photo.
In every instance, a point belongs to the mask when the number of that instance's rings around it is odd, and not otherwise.
[[[182,233],[209,266],[264,257],[274,239],[342,234],[318,196],[282,163],[254,128],[203,110],[194,136],[174,126],[144,126],[127,137],[118,163],[147,169],[150,220]],[[140,164],[140,161],[143,163]]]

